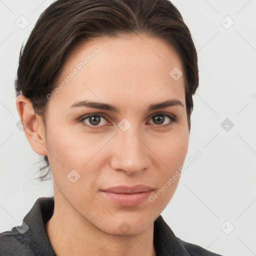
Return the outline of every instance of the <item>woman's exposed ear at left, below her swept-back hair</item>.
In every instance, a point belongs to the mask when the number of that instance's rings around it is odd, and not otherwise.
[[[30,146],[37,154],[47,155],[42,117],[35,114],[31,101],[23,95],[17,96],[16,108]]]

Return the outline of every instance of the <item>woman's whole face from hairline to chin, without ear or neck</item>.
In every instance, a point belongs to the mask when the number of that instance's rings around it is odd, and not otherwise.
[[[171,47],[142,35],[101,37],[73,50],[47,95],[45,146],[61,210],[114,235],[152,224],[177,187],[188,148],[180,70]]]

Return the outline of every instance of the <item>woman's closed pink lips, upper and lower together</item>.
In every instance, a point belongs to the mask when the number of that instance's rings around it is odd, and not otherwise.
[[[114,186],[102,189],[101,192],[116,204],[121,206],[136,206],[148,198],[152,190],[152,187],[140,184],[135,186]]]

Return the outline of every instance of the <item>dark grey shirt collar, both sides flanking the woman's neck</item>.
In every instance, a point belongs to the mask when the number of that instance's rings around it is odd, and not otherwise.
[[[45,223],[51,218],[53,209],[53,196],[39,197],[23,219],[29,226],[23,234],[24,238],[38,256],[55,256],[45,229]],[[157,256],[189,255],[161,215],[154,221],[153,245]]]

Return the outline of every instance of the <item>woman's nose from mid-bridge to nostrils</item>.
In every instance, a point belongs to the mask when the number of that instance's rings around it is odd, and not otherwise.
[[[119,130],[112,141],[114,148],[111,157],[111,166],[115,170],[122,170],[128,175],[145,171],[149,167],[150,150],[141,133],[130,128],[127,131]]]

